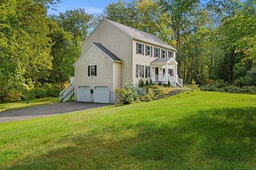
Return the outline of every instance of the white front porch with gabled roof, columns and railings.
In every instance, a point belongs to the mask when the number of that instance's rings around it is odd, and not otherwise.
[[[183,87],[183,80],[177,75],[178,62],[174,58],[159,58],[151,62],[151,81],[153,84],[165,84],[170,81],[173,87]]]

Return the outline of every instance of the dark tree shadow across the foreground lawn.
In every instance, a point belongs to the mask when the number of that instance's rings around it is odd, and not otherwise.
[[[191,115],[175,124],[144,120],[103,127],[94,135],[67,136],[56,143],[67,147],[40,156],[28,155],[5,169],[255,167],[256,107],[203,110]],[[109,130],[113,128],[117,135]],[[137,135],[125,138],[122,134],[127,131]]]

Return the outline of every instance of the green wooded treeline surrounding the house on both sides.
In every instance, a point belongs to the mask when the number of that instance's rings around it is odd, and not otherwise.
[[[48,15],[54,0],[0,2],[0,102],[56,96],[74,75],[79,46],[102,18],[177,48],[179,77],[204,85],[256,85],[255,0],[143,0]]]

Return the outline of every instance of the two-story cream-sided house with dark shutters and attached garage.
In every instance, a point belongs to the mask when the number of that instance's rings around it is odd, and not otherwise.
[[[60,96],[75,93],[75,101],[115,103],[115,89],[127,80],[181,86],[172,46],[154,35],[103,19],[81,45],[74,63],[75,79]],[[69,89],[69,90],[68,90]],[[64,94],[66,93],[66,94]],[[64,99],[65,98],[65,99]]]

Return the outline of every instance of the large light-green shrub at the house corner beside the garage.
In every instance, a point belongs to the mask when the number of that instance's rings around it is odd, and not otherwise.
[[[139,98],[139,94],[135,90],[135,87],[133,87],[129,82],[126,82],[123,88],[117,88],[115,90],[115,94],[116,103],[119,105],[130,104]]]

